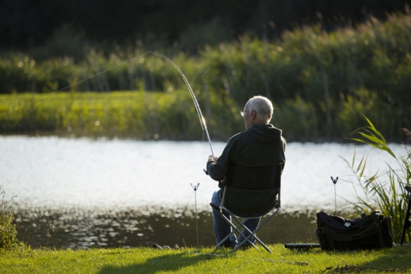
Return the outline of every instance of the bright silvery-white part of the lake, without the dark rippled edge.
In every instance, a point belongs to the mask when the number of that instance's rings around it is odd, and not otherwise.
[[[212,143],[220,155],[224,142]],[[398,155],[404,149],[391,144]],[[286,209],[334,208],[353,200],[353,174],[342,158],[358,162],[368,154],[370,171],[395,164],[388,153],[369,146],[292,142],[286,149],[282,175],[282,206]],[[23,208],[139,206],[208,208],[217,183],[203,169],[208,142],[90,140],[57,137],[0,136],[0,185],[6,197]],[[371,173],[370,172],[370,173]],[[199,185],[197,193],[190,184]]]

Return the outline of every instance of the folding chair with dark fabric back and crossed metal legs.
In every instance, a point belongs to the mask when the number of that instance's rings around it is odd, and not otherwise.
[[[224,244],[225,240],[230,238],[234,233],[241,234],[240,229],[248,232],[248,236],[242,242],[239,242],[232,251],[236,251],[242,245],[248,243],[256,247],[251,242],[251,238],[256,239],[264,249],[271,253],[271,249],[264,245],[256,233],[266,225],[279,212],[280,206],[280,190],[281,190],[281,175],[284,164],[269,167],[247,167],[238,164],[230,163],[227,176],[223,183],[223,195],[220,197],[221,203],[210,203],[212,209],[215,210],[232,227],[232,232],[227,235],[221,242],[216,245],[216,248]],[[221,194],[221,193],[220,193]],[[227,212],[229,219],[223,214]],[[269,214],[271,213],[271,214]],[[251,218],[260,218],[269,214],[267,219],[258,225],[251,232],[245,223]],[[231,217],[236,220],[238,225],[234,225],[230,221]],[[238,218],[244,218],[240,221]],[[257,247],[256,247],[257,248]]]

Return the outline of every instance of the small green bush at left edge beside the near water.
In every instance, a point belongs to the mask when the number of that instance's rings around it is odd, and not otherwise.
[[[6,208],[5,190],[0,186],[0,249],[15,249],[18,247],[16,225],[13,224],[14,212]]]

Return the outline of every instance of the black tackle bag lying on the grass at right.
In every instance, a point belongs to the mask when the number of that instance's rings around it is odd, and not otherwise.
[[[393,247],[391,217],[375,211],[358,219],[318,212],[315,231],[322,250],[379,249]]]

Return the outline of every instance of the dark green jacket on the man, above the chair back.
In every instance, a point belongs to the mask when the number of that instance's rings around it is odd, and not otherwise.
[[[232,136],[219,159],[207,162],[207,171],[212,179],[222,181],[230,162],[247,167],[285,164],[285,150],[286,140],[281,129],[270,124],[255,124]]]

